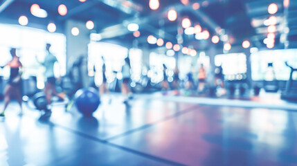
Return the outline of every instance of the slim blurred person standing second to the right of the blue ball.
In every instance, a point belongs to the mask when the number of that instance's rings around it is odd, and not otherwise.
[[[131,77],[131,64],[129,57],[125,58],[125,64],[122,68],[123,84],[122,84],[122,94],[124,95],[124,103],[127,104],[129,99],[132,99],[132,91],[129,88],[129,82]]]

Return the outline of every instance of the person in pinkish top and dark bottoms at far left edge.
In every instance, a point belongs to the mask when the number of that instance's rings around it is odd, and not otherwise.
[[[10,103],[10,100],[12,98],[12,95],[15,95],[17,98],[17,102],[19,102],[19,107],[21,107],[21,73],[19,72],[21,70],[21,62],[19,61],[19,57],[16,54],[16,48],[10,49],[10,54],[12,55],[12,60],[6,64],[6,66],[10,67],[10,77],[8,81],[8,85],[6,86],[6,89],[4,91],[4,109],[2,113],[0,113],[0,116],[5,116],[6,108],[8,107],[8,104]],[[21,111],[19,115],[21,116],[23,114],[23,109],[21,107]]]

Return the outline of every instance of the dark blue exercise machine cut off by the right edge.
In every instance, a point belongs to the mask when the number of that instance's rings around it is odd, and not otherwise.
[[[293,80],[293,73],[297,72],[297,68],[289,66],[287,62],[285,64],[291,69],[289,80],[287,81],[285,91],[282,91],[280,98],[284,100],[297,101],[297,81]]]

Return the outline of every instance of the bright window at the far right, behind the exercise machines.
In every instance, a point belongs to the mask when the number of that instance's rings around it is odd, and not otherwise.
[[[297,68],[297,49],[289,50],[262,50],[251,54],[251,72],[253,80],[265,80],[268,72],[268,64],[273,64],[273,72],[276,80],[288,80],[290,68],[285,65]],[[297,79],[294,73],[294,80]]]

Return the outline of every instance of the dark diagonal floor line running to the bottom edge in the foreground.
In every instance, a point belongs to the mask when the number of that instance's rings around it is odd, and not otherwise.
[[[143,153],[141,151],[136,151],[134,149],[129,149],[127,147],[116,145],[114,143],[108,142],[107,140],[102,140],[100,138],[97,138],[97,137],[94,137],[94,136],[90,136],[87,133],[82,133],[80,131],[76,131],[75,129],[69,129],[68,127],[64,127],[64,126],[62,126],[60,124],[55,124],[53,122],[47,122],[47,123],[44,123],[44,124],[48,124],[51,127],[59,127],[60,129],[64,129],[65,131],[68,131],[70,133],[74,133],[74,134],[76,134],[78,136],[82,136],[83,138],[87,138],[89,140],[94,140],[96,142],[100,142],[102,144],[109,145],[111,147],[116,147],[117,149],[122,149],[123,151],[128,151],[128,152],[130,152],[132,154],[136,154],[138,156],[143,156],[145,158],[150,158],[151,160],[156,160],[156,161],[159,161],[161,163],[165,163],[165,164],[169,164],[169,165],[185,166],[184,164],[177,163],[177,162],[174,162],[172,160],[167,160],[165,158],[160,158],[158,156],[153,156],[153,155],[150,155],[150,154],[145,154],[145,153]]]

